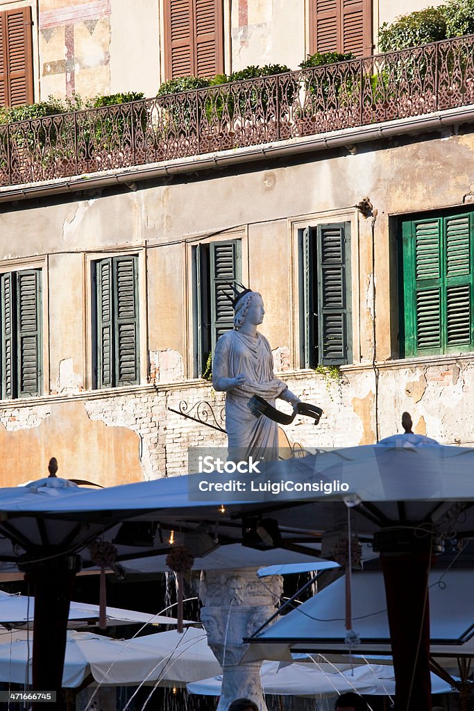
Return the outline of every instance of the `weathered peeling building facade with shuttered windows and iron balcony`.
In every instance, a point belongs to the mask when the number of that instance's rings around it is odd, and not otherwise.
[[[2,485],[40,476],[50,456],[63,476],[102,486],[171,476],[187,471],[188,446],[223,444],[221,432],[173,410],[206,401],[220,411],[202,376],[230,326],[223,294],[233,279],[262,293],[276,370],[323,407],[318,428],[293,422],[292,442],[370,444],[397,432],[409,410],[416,432],[471,444],[472,38],[436,49],[451,59],[431,81],[431,50],[408,50],[404,70],[397,58],[368,59],[379,23],[392,19],[388,1],[133,5],[132,16],[119,0],[0,2],[4,23],[21,9],[32,29],[29,100],[153,96],[173,61],[203,61],[213,75],[250,63],[296,70],[313,50],[352,48],[361,59],[277,85],[269,77],[257,99],[258,85],[240,82],[181,105],[151,100],[133,114],[9,128],[0,144]],[[173,13],[183,8],[180,44]],[[212,61],[200,54],[200,9]],[[4,30],[4,47],[14,38]],[[456,60],[458,47],[470,63]],[[7,74],[14,96],[18,77]],[[382,77],[378,93],[372,76]],[[115,142],[104,147],[97,126],[107,121]]]

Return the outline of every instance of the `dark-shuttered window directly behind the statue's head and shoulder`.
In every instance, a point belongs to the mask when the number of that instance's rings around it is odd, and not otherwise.
[[[195,343],[198,375],[205,373],[217,338],[234,328],[232,285],[242,280],[242,242],[210,242],[194,248]]]

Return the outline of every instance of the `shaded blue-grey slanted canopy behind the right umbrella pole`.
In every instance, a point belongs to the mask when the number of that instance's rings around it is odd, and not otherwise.
[[[409,584],[409,581],[406,582]],[[474,570],[432,570],[429,576],[431,656],[474,655]],[[244,660],[287,660],[291,652],[350,652],[345,641],[345,576],[251,638]],[[382,572],[352,572],[354,654],[389,654],[390,631]],[[333,658],[333,657],[330,657]]]

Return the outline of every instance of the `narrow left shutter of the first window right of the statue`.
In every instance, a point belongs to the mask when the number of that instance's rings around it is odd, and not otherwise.
[[[313,272],[315,269],[314,242],[316,230],[308,227],[303,230],[303,347],[304,367],[314,368],[318,363],[318,343],[315,338],[316,304]]]

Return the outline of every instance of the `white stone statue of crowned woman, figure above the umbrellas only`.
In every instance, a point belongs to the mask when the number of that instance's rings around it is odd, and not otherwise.
[[[255,417],[247,407],[252,395],[260,395],[270,405],[281,400],[300,402],[286,383],[274,377],[270,344],[257,326],[264,319],[264,304],[258,292],[244,289],[232,302],[234,330],[217,341],[212,360],[212,386],[227,393],[225,426],[229,459],[278,459],[278,424],[268,417]],[[274,454],[269,454],[272,449]]]

